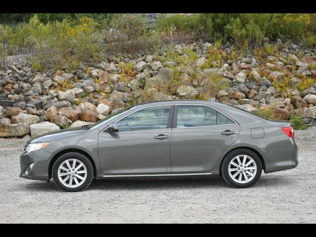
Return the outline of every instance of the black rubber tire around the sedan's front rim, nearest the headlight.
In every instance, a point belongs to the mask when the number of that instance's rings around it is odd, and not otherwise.
[[[76,188],[66,187],[60,182],[58,178],[58,168],[60,164],[64,162],[65,160],[71,159],[71,158],[80,160],[85,165],[86,170],[87,170],[87,176],[86,176],[85,181],[79,187],[76,187]],[[70,153],[63,154],[62,156],[57,158],[57,160],[55,161],[53,165],[52,176],[53,176],[54,183],[60,190],[66,191],[66,192],[79,192],[86,189],[90,185],[93,179],[93,166],[91,164],[91,161],[88,158],[86,158],[84,155],[77,152],[70,152]]]

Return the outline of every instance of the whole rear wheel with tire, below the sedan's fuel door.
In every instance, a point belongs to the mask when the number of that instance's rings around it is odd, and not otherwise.
[[[262,163],[254,152],[247,149],[232,151],[223,160],[221,173],[230,186],[249,188],[254,185],[262,173]]]

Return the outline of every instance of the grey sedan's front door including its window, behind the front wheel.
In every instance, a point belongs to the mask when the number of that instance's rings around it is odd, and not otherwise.
[[[118,132],[100,132],[102,173],[170,173],[172,115],[171,105],[146,107],[118,119]]]

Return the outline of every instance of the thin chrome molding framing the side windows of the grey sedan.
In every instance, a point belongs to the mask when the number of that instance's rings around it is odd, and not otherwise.
[[[210,105],[205,105],[205,104],[170,104],[170,105],[151,105],[151,106],[146,106],[146,107],[143,107],[143,108],[139,108],[138,110],[135,110],[135,111],[133,111],[133,112],[131,112],[131,113],[129,113],[129,114],[123,116],[122,118],[118,118],[118,120],[116,120],[116,121],[113,122],[113,123],[116,123],[116,122],[118,122],[119,120],[121,120],[121,119],[123,119],[123,118],[125,118],[125,117],[127,117],[127,116],[129,116],[129,115],[131,115],[131,114],[134,114],[135,112],[140,111],[140,110],[144,110],[144,109],[151,108],[151,107],[165,107],[165,106],[170,106],[170,107],[171,107],[171,106],[176,106],[176,105],[177,105],[177,106],[181,106],[181,105],[207,106],[207,107],[210,107],[211,109],[213,109],[213,110],[215,110],[215,111],[221,113],[222,115],[226,116],[227,118],[230,118],[232,121],[235,122],[235,124],[206,125],[206,126],[196,126],[196,127],[214,127],[214,126],[228,126],[228,125],[237,125],[237,124],[238,124],[235,119],[233,119],[233,118],[231,118],[230,116],[224,114],[223,112],[219,111],[218,109],[216,109],[216,108],[214,108],[214,107],[212,107],[212,106],[210,106]],[[102,132],[102,133],[108,133],[108,134],[110,134],[109,132],[104,132],[104,130],[106,130],[107,128],[108,128],[108,126],[105,127],[101,132]],[[183,128],[194,128],[194,127],[175,127],[175,128],[163,128],[163,129],[128,131],[128,132],[159,131],[159,130],[183,129]],[[127,133],[127,132],[117,132],[117,133]]]

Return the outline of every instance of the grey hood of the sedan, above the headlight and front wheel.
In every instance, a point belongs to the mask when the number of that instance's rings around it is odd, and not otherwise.
[[[30,139],[27,144],[30,143],[41,143],[41,142],[49,142],[51,139],[56,139],[56,138],[62,138],[66,136],[73,136],[76,134],[81,134],[83,132],[88,131],[85,128],[82,127],[72,127],[72,128],[66,128],[58,131],[53,131],[49,133],[45,133],[43,135],[40,135],[38,137],[35,137],[33,139]]]

